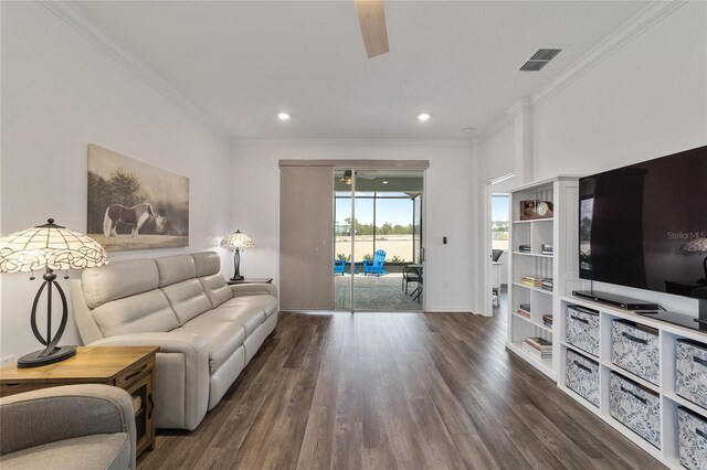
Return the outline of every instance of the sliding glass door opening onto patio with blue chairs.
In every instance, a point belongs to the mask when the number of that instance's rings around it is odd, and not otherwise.
[[[337,310],[422,310],[423,181],[423,170],[335,170]]]

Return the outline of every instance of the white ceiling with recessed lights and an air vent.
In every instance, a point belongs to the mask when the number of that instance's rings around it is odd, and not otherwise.
[[[372,60],[352,1],[76,4],[236,139],[447,140],[488,127],[647,2],[389,0],[390,53]],[[516,72],[541,45],[566,49]]]

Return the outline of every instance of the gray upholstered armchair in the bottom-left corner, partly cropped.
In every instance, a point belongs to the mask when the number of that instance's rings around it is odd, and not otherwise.
[[[135,469],[135,414],[124,389],[66,385],[0,398],[0,468]]]

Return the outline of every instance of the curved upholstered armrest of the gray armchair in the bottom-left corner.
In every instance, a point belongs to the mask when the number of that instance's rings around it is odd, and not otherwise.
[[[130,436],[135,468],[135,410],[122,388],[65,385],[0,398],[0,455],[96,434]]]

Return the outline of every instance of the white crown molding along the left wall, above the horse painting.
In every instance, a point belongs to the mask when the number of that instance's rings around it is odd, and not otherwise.
[[[128,71],[133,72],[155,90],[177,105],[194,120],[205,126],[209,130],[229,142],[233,136],[220,124],[201,111],[189,98],[177,88],[167,83],[157,72],[147,65],[141,58],[130,52],[118,40],[113,38],[104,28],[93,21],[81,8],[67,1],[40,0],[49,11],[62,19],[66,24],[83,34],[86,39],[101,47],[106,54],[118,61]]]

